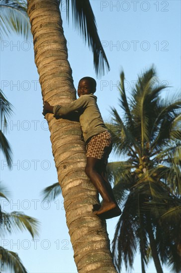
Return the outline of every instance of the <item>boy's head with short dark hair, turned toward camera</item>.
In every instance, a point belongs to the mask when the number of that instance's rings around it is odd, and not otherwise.
[[[94,93],[96,90],[96,81],[91,77],[84,77],[80,79],[78,85],[78,96],[88,95]]]

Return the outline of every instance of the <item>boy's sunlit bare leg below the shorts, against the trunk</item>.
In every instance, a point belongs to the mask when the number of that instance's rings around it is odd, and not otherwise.
[[[87,165],[85,170],[86,174],[89,176],[91,182],[93,183],[103,200],[102,206],[98,211],[95,212],[97,215],[116,207],[116,204],[112,200],[111,195],[109,194],[109,190],[106,187],[105,181],[99,173],[101,163],[102,162],[100,159],[87,157]]]

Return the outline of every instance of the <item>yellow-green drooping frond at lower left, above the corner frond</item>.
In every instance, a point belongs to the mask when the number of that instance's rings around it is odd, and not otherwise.
[[[1,234],[28,230],[34,238],[35,235],[38,235],[38,226],[38,220],[25,215],[23,212],[12,211],[11,213],[6,213],[1,211]]]

